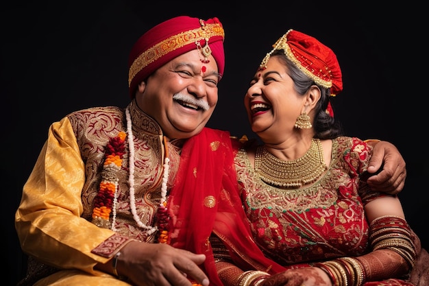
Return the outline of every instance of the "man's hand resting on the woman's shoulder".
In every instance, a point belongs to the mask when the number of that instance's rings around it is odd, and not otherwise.
[[[369,187],[374,191],[396,195],[404,189],[406,178],[404,158],[392,143],[369,141],[369,144],[373,146],[368,167]]]

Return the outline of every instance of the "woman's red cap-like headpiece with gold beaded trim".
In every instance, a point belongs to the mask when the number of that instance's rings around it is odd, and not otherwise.
[[[335,53],[316,38],[290,29],[275,42],[273,48],[262,60],[260,69],[266,67],[273,51],[283,49],[286,57],[316,84],[331,88],[332,96],[343,90],[341,69]]]

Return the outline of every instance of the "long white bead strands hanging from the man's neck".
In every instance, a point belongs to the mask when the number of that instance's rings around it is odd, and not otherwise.
[[[130,209],[133,215],[134,221],[136,221],[137,225],[140,228],[144,228],[147,230],[147,235],[152,235],[158,230],[158,226],[147,226],[140,221],[140,217],[137,215],[136,211],[136,197],[134,195],[134,136],[132,134],[132,119],[130,115],[130,108],[126,108],[125,116],[127,117],[127,134],[128,134],[128,149],[130,152],[130,175],[128,178],[128,184],[130,184]],[[167,148],[167,146],[165,146]],[[161,202],[160,206],[163,206],[165,202],[167,202],[167,181],[169,180],[169,157],[165,156],[164,159],[164,173],[162,174],[162,184],[161,184]],[[115,200],[116,200],[115,192]],[[113,222],[112,226],[114,226],[114,220],[116,218],[116,207],[114,208]],[[113,227],[112,227],[113,229]]]

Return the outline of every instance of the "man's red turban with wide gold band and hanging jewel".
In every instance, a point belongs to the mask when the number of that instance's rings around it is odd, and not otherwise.
[[[204,21],[189,16],[177,16],[149,29],[137,40],[130,52],[130,97],[134,97],[138,84],[156,69],[197,48],[201,49],[204,55],[211,53],[216,60],[219,74],[222,75],[225,67],[224,38],[223,26],[216,17]]]

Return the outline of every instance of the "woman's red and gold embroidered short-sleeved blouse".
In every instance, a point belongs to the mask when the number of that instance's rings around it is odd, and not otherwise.
[[[258,246],[281,265],[358,256],[368,251],[363,207],[369,193],[359,179],[371,147],[356,138],[332,142],[328,171],[310,187],[278,189],[263,182],[244,150],[235,163],[245,212]]]

